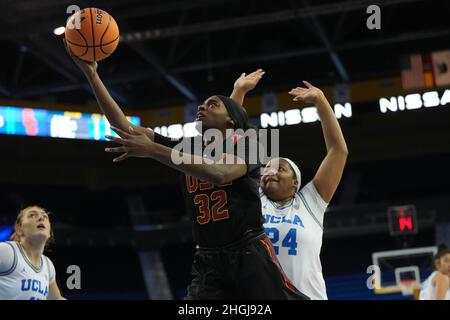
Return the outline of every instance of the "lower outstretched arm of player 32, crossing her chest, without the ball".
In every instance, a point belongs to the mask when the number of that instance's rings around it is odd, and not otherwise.
[[[245,161],[234,155],[225,154],[225,157],[233,158],[231,161],[232,164],[225,164],[225,161],[205,163],[202,157],[184,154],[181,151],[156,143],[145,134],[134,131],[133,127],[130,127],[128,132],[114,127],[111,128],[120,138],[111,136],[106,136],[106,138],[121,146],[106,148],[105,151],[122,153],[122,155],[113,160],[114,162],[122,161],[130,157],[152,158],[187,175],[209,181],[215,185],[229,183],[247,173]],[[183,159],[183,161],[179,161],[180,163],[175,162],[174,158]]]

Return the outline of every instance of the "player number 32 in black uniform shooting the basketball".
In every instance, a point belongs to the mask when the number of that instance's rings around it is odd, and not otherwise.
[[[102,112],[120,136],[107,137],[120,145],[106,149],[122,153],[114,161],[151,158],[181,173],[186,208],[198,245],[192,267],[194,279],[186,299],[308,299],[288,280],[264,233],[258,191],[261,165],[246,159],[248,150],[244,158],[237,157],[236,148],[233,154],[225,153],[224,158],[232,158],[233,164],[206,164],[201,155],[188,155],[194,161],[176,165],[171,158],[172,148],[182,141],[132,125],[101,81],[97,63],[84,62],[67,51],[85,74]],[[199,105],[196,120],[203,131],[222,132],[224,145],[242,138],[227,135],[227,129],[245,131],[251,127],[240,105],[218,95]],[[245,146],[248,148],[250,143],[255,142],[246,141]],[[202,150],[206,144],[207,141],[202,143]]]

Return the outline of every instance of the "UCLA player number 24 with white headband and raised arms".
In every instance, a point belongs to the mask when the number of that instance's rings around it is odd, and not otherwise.
[[[235,82],[232,97],[242,102],[264,71],[242,76]],[[289,94],[294,101],[313,104],[320,117],[327,154],[314,179],[304,187],[297,165],[286,158],[272,159],[261,178],[261,202],[265,231],[280,264],[298,290],[311,299],[327,299],[322,275],[324,213],[342,177],[347,161],[347,145],[339,123],[323,92],[303,81]]]

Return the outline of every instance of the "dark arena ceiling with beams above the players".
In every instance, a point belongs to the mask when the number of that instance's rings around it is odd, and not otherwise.
[[[373,1],[332,0],[2,0],[0,96],[85,103],[82,74],[53,29],[66,9],[98,7],[122,41],[100,62],[114,98],[131,110],[228,93],[242,72],[263,68],[257,90],[399,75],[400,56],[447,49],[450,2],[380,0],[381,29],[369,30]]]

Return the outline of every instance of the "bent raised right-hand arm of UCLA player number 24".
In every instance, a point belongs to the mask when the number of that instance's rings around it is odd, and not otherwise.
[[[294,96],[294,101],[314,104],[319,113],[327,155],[317,170],[313,181],[322,199],[328,203],[333,198],[344,172],[348,155],[347,144],[333,109],[322,90],[307,81],[303,81],[303,83],[306,88],[294,88],[289,94]]]

